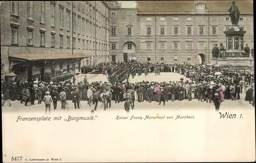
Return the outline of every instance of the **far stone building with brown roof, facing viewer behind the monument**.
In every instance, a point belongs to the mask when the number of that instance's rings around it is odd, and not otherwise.
[[[231,1],[136,1],[137,9],[111,8],[112,61],[209,62],[230,28]],[[253,5],[236,1],[244,44],[253,47]],[[244,45],[245,46],[245,45]]]

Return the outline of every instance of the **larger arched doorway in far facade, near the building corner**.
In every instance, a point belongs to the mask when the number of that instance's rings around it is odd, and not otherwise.
[[[136,45],[132,41],[123,44],[123,62],[136,60]]]

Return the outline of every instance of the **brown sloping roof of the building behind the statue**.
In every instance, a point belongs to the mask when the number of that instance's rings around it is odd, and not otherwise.
[[[253,14],[251,0],[234,0],[239,7],[240,14]],[[144,14],[169,13],[169,14],[191,14],[196,3],[203,2],[210,14],[227,13],[232,1],[136,1],[138,12]],[[139,14],[138,13],[138,14]]]

